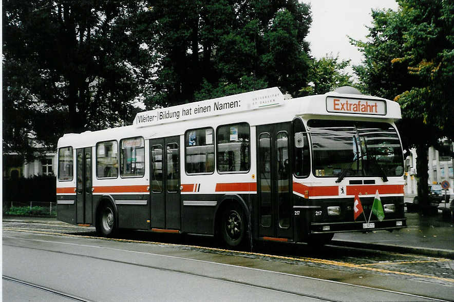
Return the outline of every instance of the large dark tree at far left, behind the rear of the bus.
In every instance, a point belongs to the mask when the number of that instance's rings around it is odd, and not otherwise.
[[[132,120],[135,1],[4,1],[4,152]],[[120,122],[119,122],[120,121]]]

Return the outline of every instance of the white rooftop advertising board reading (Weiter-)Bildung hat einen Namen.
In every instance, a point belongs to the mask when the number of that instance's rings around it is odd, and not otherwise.
[[[133,124],[136,127],[144,127],[212,115],[230,114],[233,112],[276,106],[280,105],[282,101],[282,92],[280,92],[279,88],[273,87],[240,93],[234,96],[140,112],[136,115]]]

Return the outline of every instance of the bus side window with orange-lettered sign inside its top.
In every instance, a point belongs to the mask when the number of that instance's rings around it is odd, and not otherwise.
[[[120,176],[143,177],[145,174],[145,143],[142,137],[120,141]]]

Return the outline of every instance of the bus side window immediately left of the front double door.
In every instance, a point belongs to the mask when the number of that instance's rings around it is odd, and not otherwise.
[[[249,124],[219,126],[216,142],[218,172],[249,171],[251,165]]]

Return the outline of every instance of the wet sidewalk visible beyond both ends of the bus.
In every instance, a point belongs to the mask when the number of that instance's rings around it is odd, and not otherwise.
[[[337,233],[332,240],[338,246],[415,253],[454,259],[454,222],[442,215],[420,216],[406,213],[407,228],[399,231],[372,231],[370,233]],[[45,223],[68,225],[52,218],[3,217],[4,222]]]

